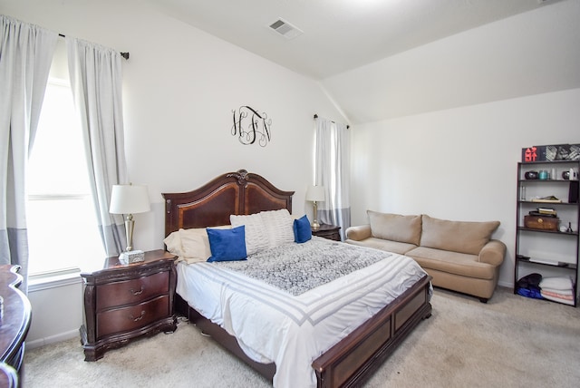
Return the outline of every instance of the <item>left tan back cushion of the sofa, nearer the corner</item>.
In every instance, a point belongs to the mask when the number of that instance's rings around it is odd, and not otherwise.
[[[367,210],[366,214],[369,216],[373,238],[419,245],[420,216],[402,216],[372,210]]]

